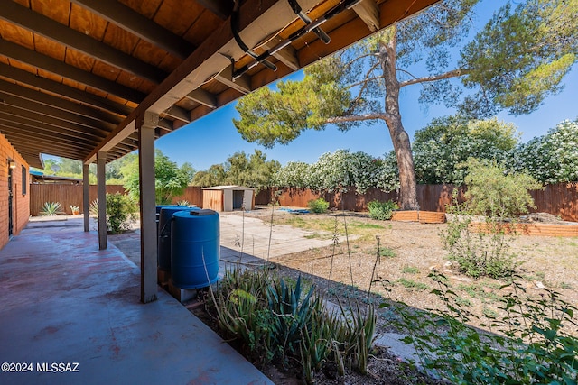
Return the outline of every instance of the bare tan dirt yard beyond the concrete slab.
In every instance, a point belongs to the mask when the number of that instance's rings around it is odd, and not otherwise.
[[[246,215],[271,221],[270,209]],[[452,266],[440,237],[447,224],[377,221],[361,213],[276,215],[275,210],[274,225],[294,225],[315,231],[312,236],[329,239],[335,233],[344,234],[347,225],[349,245],[339,243],[275,260],[323,282],[330,294],[349,289],[364,296],[371,286],[372,293],[411,307],[441,308],[442,301],[430,293],[436,283],[428,275],[435,270],[448,279],[461,307],[483,320],[485,315],[498,314],[499,299],[509,290],[499,289],[505,280],[471,279]],[[517,280],[529,295],[544,296],[545,289],[551,289],[569,304],[578,305],[578,238],[517,235],[512,238],[510,252],[517,255]],[[347,286],[327,284],[326,280]],[[578,335],[578,330],[573,334]]]

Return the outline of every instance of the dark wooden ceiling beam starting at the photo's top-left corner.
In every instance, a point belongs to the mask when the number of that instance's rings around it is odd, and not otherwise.
[[[158,84],[167,76],[165,72],[153,65],[138,60],[123,51],[116,50],[101,41],[96,41],[82,32],[74,31],[50,17],[37,14],[12,0],[0,0],[0,8],[2,9],[0,19],[38,33],[51,41],[57,41],[139,78],[145,78]]]

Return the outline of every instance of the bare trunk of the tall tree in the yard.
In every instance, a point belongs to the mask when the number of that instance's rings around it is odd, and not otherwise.
[[[396,151],[399,170],[399,206],[402,210],[418,210],[414,157],[409,135],[401,123],[399,82],[396,77],[396,40],[381,42],[378,59],[386,87],[386,124]]]

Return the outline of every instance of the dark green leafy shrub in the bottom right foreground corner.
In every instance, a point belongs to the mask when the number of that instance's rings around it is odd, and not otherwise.
[[[527,296],[522,285],[506,285],[511,293],[500,299],[499,316],[489,316],[491,332],[465,323],[471,314],[443,282],[432,292],[445,304],[441,311],[415,312],[396,307],[396,327],[407,334],[423,368],[452,384],[575,384],[578,380],[578,339],[566,331],[577,324],[571,304],[546,290],[545,296]],[[495,333],[492,333],[495,332]]]

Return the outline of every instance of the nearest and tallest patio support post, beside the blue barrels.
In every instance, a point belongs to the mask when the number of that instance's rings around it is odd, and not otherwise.
[[[152,302],[157,296],[154,129],[158,124],[159,115],[149,111],[136,121],[141,209],[141,301],[143,303]]]

